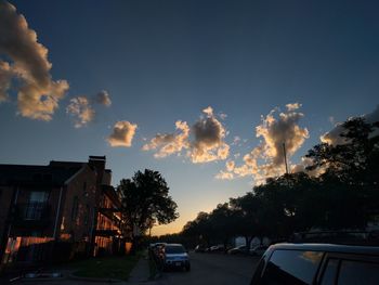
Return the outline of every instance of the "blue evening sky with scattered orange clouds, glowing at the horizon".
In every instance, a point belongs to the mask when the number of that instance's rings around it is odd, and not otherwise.
[[[1,1],[0,163],[158,170],[179,232],[377,118],[377,1]],[[337,135],[338,137],[338,135]]]

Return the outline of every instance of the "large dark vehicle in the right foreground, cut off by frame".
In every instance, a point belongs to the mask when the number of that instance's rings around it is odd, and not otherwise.
[[[379,247],[276,244],[263,255],[250,285],[379,284]]]

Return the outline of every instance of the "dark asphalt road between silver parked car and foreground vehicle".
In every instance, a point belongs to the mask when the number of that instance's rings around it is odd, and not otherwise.
[[[259,258],[223,254],[191,254],[191,271],[164,272],[159,285],[248,285]]]

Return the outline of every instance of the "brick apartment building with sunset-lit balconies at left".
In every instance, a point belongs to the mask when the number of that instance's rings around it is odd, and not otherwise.
[[[120,202],[104,156],[0,165],[1,264],[122,251]]]

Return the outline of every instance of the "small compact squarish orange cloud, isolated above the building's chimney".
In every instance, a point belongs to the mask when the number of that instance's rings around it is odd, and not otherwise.
[[[113,133],[108,137],[107,141],[110,146],[123,146],[130,147],[135,134],[138,126],[127,120],[117,121],[114,126]]]

